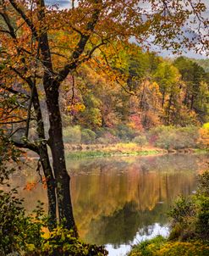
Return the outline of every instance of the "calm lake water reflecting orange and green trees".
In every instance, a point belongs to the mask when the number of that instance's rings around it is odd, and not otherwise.
[[[125,255],[130,245],[157,234],[168,235],[166,212],[180,194],[195,191],[205,156],[168,155],[111,159],[67,159],[74,217],[85,242],[106,245],[110,255]],[[12,177],[27,210],[46,203],[46,189],[30,161]]]

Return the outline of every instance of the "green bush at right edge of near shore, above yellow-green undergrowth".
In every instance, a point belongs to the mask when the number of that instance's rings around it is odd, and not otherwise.
[[[172,217],[171,239],[209,238],[209,172],[200,176],[200,185],[195,195],[179,198],[173,205],[169,216]]]

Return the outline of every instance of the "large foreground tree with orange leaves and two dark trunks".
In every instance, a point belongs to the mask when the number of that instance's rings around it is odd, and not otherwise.
[[[125,43],[131,37],[146,47],[146,42],[149,44],[154,38],[154,43],[176,51],[184,45],[208,52],[208,23],[201,16],[206,6],[197,0],[185,3],[88,0],[76,1],[69,9],[57,9],[47,7],[44,0],[0,1],[1,93],[29,98],[26,109],[22,113],[18,110],[15,120],[8,120],[7,125],[14,145],[29,148],[40,156],[47,180],[50,228],[57,225],[57,206],[59,220],[75,230],[59,108],[61,84],[82,64],[91,62],[95,69],[110,70],[121,49],[115,42]],[[187,33],[182,30],[184,25]],[[198,32],[194,35],[195,25]],[[112,50],[106,54],[107,46]],[[108,61],[107,57],[111,59]],[[47,104],[48,136],[42,98]],[[21,123],[24,131],[18,141],[15,133],[19,127],[14,128],[14,122]],[[1,122],[3,128],[5,123]],[[36,125],[36,138],[32,141],[30,125]],[[52,165],[47,146],[52,153]]]

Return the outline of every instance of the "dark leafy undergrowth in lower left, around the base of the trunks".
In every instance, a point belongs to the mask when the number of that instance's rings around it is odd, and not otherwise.
[[[17,191],[0,191],[0,254],[19,255],[107,255],[103,247],[86,244],[74,237],[74,231],[58,226],[47,231],[47,218],[43,214],[42,203],[30,215],[25,214],[23,199]],[[45,230],[44,230],[45,228]]]

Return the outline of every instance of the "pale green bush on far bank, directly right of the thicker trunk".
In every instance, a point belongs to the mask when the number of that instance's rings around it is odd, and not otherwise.
[[[80,144],[81,142],[81,131],[80,126],[69,126],[63,129],[63,142],[70,144]]]

